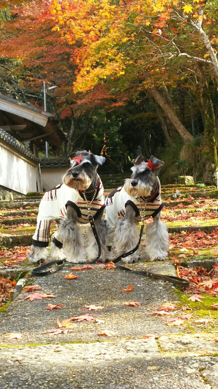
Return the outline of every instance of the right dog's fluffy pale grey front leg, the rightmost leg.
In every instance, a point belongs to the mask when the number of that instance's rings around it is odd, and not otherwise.
[[[146,227],[146,253],[152,261],[165,260],[169,250],[167,227],[160,221],[160,213]]]

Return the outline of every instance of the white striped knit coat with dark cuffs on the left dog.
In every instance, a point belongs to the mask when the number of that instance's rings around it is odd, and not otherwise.
[[[91,215],[97,219],[105,208],[104,188],[98,176],[97,192],[91,204]],[[55,219],[66,217],[66,208],[71,205],[77,212],[78,222],[88,223],[88,208],[82,191],[59,184],[45,192],[38,208],[37,227],[32,237],[34,246],[46,247],[49,242],[50,225]]]

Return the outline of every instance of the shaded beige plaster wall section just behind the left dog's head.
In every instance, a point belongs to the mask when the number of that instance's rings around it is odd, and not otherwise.
[[[44,190],[62,184],[62,177],[68,168],[41,168],[41,181]]]

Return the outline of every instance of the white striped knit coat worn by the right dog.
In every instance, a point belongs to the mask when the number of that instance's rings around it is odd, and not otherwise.
[[[136,212],[135,221],[139,223],[142,218],[140,216],[140,209],[145,211],[145,219],[148,219],[150,216],[153,218],[162,210],[163,204],[161,200],[161,184],[160,180],[157,177],[157,186],[155,193],[149,198],[140,197],[140,202],[138,198],[130,197],[124,190],[123,186],[115,189],[111,192],[106,198],[106,217],[108,224],[108,246],[112,246],[114,231],[116,229],[118,217],[124,218],[127,204]],[[141,203],[141,204],[140,204]]]

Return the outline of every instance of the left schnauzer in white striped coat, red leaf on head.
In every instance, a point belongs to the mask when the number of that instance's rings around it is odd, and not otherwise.
[[[97,174],[98,165],[105,161],[104,157],[87,151],[71,154],[71,167],[63,176],[63,184],[45,192],[37,217],[37,228],[33,235],[32,246],[28,258],[32,263],[43,263],[49,253],[50,225],[55,221],[58,229],[50,247],[52,260],[67,259],[72,263],[86,262],[85,250],[79,223],[88,223],[91,214],[101,243],[100,260],[108,258],[106,247],[107,225],[102,220],[105,208],[103,185]],[[91,227],[88,229],[88,259],[97,257],[98,246]]]

